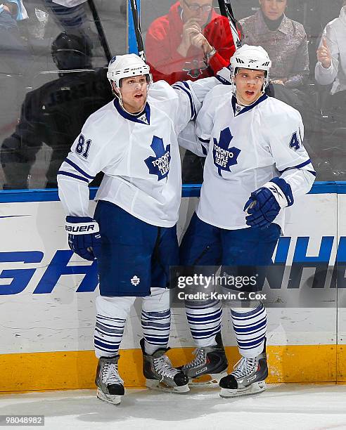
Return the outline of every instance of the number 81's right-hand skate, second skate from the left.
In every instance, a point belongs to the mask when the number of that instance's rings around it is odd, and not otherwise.
[[[146,377],[146,386],[150,389],[186,393],[188,377],[181,370],[172,367],[172,363],[165,355],[168,349],[158,349],[149,356],[144,350],[144,339],[141,339],[143,351],[143,374]]]

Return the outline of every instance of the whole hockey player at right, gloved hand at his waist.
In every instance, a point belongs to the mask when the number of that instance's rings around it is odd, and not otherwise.
[[[312,187],[316,174],[303,146],[300,113],[264,94],[270,66],[261,46],[242,46],[231,58],[231,86],[212,89],[198,113],[196,134],[207,158],[200,202],[181,243],[181,265],[268,266],[283,208]],[[241,291],[259,289],[243,285]],[[266,309],[254,301],[248,308],[235,306],[229,304],[241,360],[219,380],[224,397],[264,390],[268,374]],[[190,379],[222,376],[227,360],[221,303],[188,301],[186,315],[197,349],[182,370]]]

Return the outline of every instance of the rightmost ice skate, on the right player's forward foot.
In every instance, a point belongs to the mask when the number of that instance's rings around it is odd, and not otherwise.
[[[221,397],[246,396],[266,389],[264,379],[268,376],[267,354],[264,351],[255,358],[241,358],[233,372],[222,378]]]

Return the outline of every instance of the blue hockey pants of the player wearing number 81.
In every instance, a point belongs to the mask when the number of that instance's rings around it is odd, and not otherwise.
[[[152,226],[116,204],[99,200],[97,257],[100,294],[146,297],[151,287],[169,288],[169,267],[179,262],[177,227]]]

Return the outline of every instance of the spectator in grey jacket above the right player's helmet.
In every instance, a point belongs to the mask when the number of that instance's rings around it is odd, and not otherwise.
[[[239,21],[243,44],[260,45],[273,63],[271,82],[302,86],[309,75],[307,34],[300,22],[287,18],[287,0],[259,0],[260,10]]]

